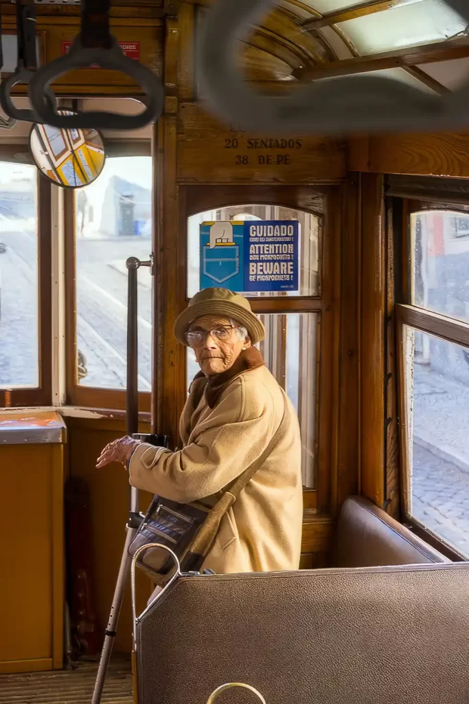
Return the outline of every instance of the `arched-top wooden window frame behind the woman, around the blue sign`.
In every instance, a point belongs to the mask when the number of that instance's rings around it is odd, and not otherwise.
[[[343,194],[340,187],[324,186],[288,186],[288,185],[187,185],[179,187],[179,242],[177,260],[179,277],[174,287],[171,301],[177,311],[184,310],[188,303],[186,296],[186,262],[187,262],[187,219],[191,215],[205,210],[238,207],[245,205],[266,205],[304,210],[322,219],[321,239],[319,242],[320,287],[315,296],[262,296],[250,298],[252,310],[258,315],[271,313],[316,313],[318,315],[318,348],[316,386],[316,463],[315,489],[308,491],[309,506],[318,513],[328,513],[333,491],[333,407],[337,392],[335,379],[338,367],[338,346],[335,344],[338,334],[338,298],[340,287],[340,220],[342,213]],[[335,251],[337,248],[337,251]],[[174,341],[160,345],[162,364],[160,374],[165,374],[165,358],[174,359]],[[178,351],[177,358],[172,361],[176,366],[179,378],[184,374],[186,379],[186,354]],[[179,371],[178,371],[179,367]],[[183,372],[184,368],[184,372]],[[187,380],[186,380],[187,382]],[[163,389],[158,398],[158,406],[165,407],[166,419],[174,418],[172,427],[165,426],[165,432],[174,433],[176,420],[179,418],[186,393],[187,383],[182,394],[173,394],[173,398],[165,398],[164,381],[160,382]],[[160,392],[161,393],[161,392]],[[167,423],[168,421],[165,420]]]

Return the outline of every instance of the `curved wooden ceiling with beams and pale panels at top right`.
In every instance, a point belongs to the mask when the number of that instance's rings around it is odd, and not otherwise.
[[[207,7],[213,0],[186,1]],[[463,32],[442,41],[418,42],[419,13],[428,13],[431,9],[429,1],[432,0],[364,0],[338,11],[321,14],[314,8],[315,0],[279,0],[262,27],[257,27],[248,39],[250,49],[243,52],[246,59],[250,57],[249,61],[243,61],[246,77],[263,82],[288,81],[291,86],[292,80],[311,81],[385,70],[395,73],[400,80],[414,84],[418,82],[423,89],[441,94],[448,92],[450,88],[442,80],[441,70],[437,72],[437,80],[432,75],[435,72],[431,67],[437,63],[458,61],[461,62],[458,73],[464,73],[467,68],[469,75],[469,36]],[[331,1],[330,4],[337,6],[339,3]],[[347,4],[347,0],[341,4]],[[409,46],[404,48],[360,55],[347,37],[343,23],[352,20],[359,23],[361,19],[374,15],[375,20],[383,23],[384,29],[390,18],[388,13],[396,13],[399,8],[409,5],[419,6],[413,12],[416,26],[407,25],[403,32],[411,37],[415,29],[415,44],[410,41]],[[281,59],[283,73],[278,66],[269,73],[269,56]],[[454,73],[454,63],[449,65],[449,75],[451,73]]]

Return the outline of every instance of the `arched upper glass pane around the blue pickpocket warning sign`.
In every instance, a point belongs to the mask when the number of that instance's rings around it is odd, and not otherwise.
[[[281,222],[298,222],[299,223],[299,292],[300,296],[319,296],[320,281],[319,281],[319,239],[321,229],[321,219],[317,215],[305,213],[303,210],[293,210],[292,208],[283,208],[282,206],[230,206],[228,208],[219,208],[218,210],[207,210],[205,213],[198,213],[188,218],[188,243],[187,243],[187,295],[191,298],[200,289],[200,225],[203,222],[243,222],[246,220],[275,220]],[[275,239],[275,237],[274,237]],[[223,249],[223,258],[226,261],[232,262],[233,267],[237,266],[237,270],[242,270],[242,263],[239,260],[236,262],[236,243],[224,242],[224,246],[217,246],[218,249]],[[264,245],[262,245],[264,246]],[[264,262],[269,265],[283,262],[283,249],[287,245],[268,244],[269,251],[260,253],[259,259],[264,259]],[[276,253],[274,248],[282,247],[278,250],[281,253]],[[227,254],[228,252],[228,254]],[[234,252],[234,253],[233,253]],[[288,255],[290,256],[290,255]],[[292,255],[293,256],[293,255]],[[220,257],[218,258],[220,259]],[[217,260],[217,259],[216,259]],[[262,262],[262,263],[264,263]],[[213,263],[213,262],[211,262]],[[230,279],[236,275],[236,270],[224,272],[226,278],[221,281],[220,278],[213,279],[214,287],[224,286],[230,287]],[[240,291],[241,293],[243,291]],[[297,291],[277,291],[277,292],[248,292],[248,296],[297,296]]]

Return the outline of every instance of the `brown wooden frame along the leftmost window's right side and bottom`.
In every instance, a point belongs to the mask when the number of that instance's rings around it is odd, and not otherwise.
[[[13,152],[20,146],[11,145]],[[8,161],[6,155],[1,161]],[[12,158],[12,161],[15,161]],[[52,403],[52,250],[51,183],[37,171],[37,313],[39,386],[35,389],[0,389],[1,408],[51,406]]]

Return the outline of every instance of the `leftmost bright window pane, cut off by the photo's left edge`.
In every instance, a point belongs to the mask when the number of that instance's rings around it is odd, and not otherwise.
[[[39,386],[37,168],[0,162],[0,388]]]

